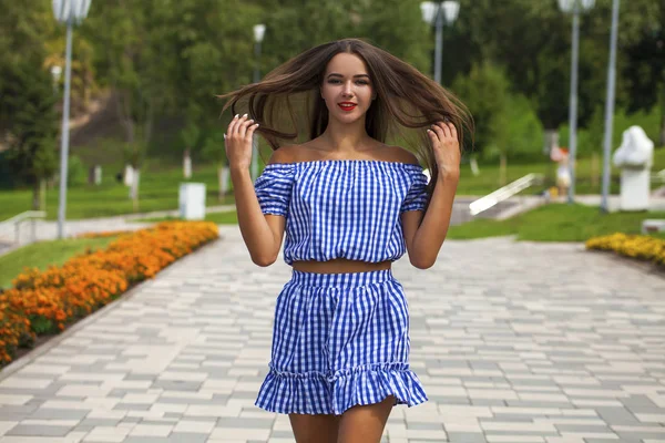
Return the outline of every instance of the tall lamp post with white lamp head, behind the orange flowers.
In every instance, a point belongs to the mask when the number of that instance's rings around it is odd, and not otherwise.
[[[58,238],[64,237],[64,209],[66,206],[66,161],[69,157],[69,109],[72,75],[72,27],[88,16],[91,0],[53,0],[53,14],[66,24],[66,50],[64,64],[64,103],[62,106],[62,142],[60,145],[60,200],[58,205]]]

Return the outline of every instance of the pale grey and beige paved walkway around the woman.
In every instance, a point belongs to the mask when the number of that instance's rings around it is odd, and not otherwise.
[[[283,262],[237,227],[0,373],[0,443],[293,442],[253,402]],[[383,442],[665,442],[665,279],[580,244],[448,241],[395,275],[430,401]]]

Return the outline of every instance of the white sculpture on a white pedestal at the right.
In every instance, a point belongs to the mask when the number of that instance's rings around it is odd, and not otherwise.
[[[654,142],[640,126],[631,126],[623,133],[618,150],[614,152],[614,165],[621,167],[622,210],[647,210],[651,185],[651,167],[654,159]]]

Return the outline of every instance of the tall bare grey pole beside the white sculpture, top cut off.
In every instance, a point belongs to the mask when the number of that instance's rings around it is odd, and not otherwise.
[[[607,63],[607,99],[605,100],[605,136],[603,141],[603,195],[601,210],[610,212],[610,151],[612,150],[612,124],[614,119],[614,83],[616,79],[616,34],[618,32],[618,0],[612,2],[612,32],[610,34],[610,62]]]

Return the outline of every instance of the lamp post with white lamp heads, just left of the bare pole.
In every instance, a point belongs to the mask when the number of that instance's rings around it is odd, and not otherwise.
[[[593,8],[595,0],[559,0],[559,8],[565,13],[573,14],[573,50],[571,54],[571,103],[569,109],[569,169],[571,186],[567,202],[573,203],[575,196],[575,157],[577,153],[577,52],[580,49],[580,12]]]

